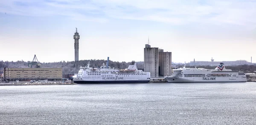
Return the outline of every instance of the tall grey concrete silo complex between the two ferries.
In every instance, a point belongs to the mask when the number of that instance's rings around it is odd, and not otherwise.
[[[172,52],[163,52],[158,47],[151,47],[149,42],[145,44],[144,72],[150,72],[151,77],[171,75]]]

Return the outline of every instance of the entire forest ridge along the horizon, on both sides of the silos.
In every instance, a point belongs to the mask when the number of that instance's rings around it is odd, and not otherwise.
[[[97,68],[102,66],[102,64],[106,64],[106,60],[81,60],[78,62],[75,61],[59,61],[59,62],[52,62],[52,63],[40,63],[41,67],[62,67],[63,74],[66,73],[77,73],[79,70],[79,67],[85,67],[87,66],[88,62],[90,61],[90,67]],[[28,67],[28,63],[26,61],[0,61],[0,71],[3,69],[3,67]],[[138,69],[143,69],[144,63],[143,61],[136,62]],[[111,68],[117,68],[117,69],[125,69],[128,68],[130,62],[119,62],[119,61],[109,61],[109,66]],[[183,67],[183,64],[178,64],[177,67]],[[194,66],[186,66],[187,68],[195,68]],[[215,69],[216,66],[198,66],[197,68],[205,68],[205,69]],[[256,65],[238,65],[238,66],[226,66],[226,69],[232,69],[233,71],[242,71],[245,73],[253,73],[253,71],[256,71]]]

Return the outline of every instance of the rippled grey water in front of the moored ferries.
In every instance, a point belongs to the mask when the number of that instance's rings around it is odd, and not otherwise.
[[[0,86],[0,125],[255,125],[256,83]]]

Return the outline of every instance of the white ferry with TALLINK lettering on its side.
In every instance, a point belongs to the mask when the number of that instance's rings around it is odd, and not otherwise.
[[[215,69],[183,68],[173,69],[170,76],[166,76],[168,82],[246,82],[244,72],[226,69],[224,63],[220,63]]]

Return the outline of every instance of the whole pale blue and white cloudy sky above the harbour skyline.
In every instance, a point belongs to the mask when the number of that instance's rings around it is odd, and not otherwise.
[[[0,60],[143,61],[144,47],[173,62],[256,63],[256,0],[0,0]],[[255,58],[255,59],[254,59]]]

